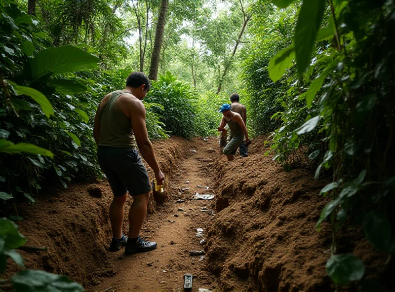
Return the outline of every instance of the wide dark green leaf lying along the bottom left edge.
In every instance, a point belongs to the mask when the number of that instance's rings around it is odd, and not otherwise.
[[[16,292],[83,292],[83,287],[66,276],[39,270],[25,270],[12,276],[11,282]]]

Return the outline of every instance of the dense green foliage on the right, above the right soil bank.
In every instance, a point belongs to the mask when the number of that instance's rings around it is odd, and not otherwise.
[[[298,2],[273,2],[288,8],[254,27],[256,45],[244,58],[248,106],[257,113],[251,122],[265,125],[254,132],[273,131],[272,153],[285,168],[303,152],[317,166],[316,179],[331,177],[320,192],[331,201],[318,230],[328,220],[336,235],[354,222],[375,248],[393,254],[394,1],[330,0],[325,9],[326,1],[304,0],[299,13]],[[364,268],[353,255],[332,255],[327,272],[346,284],[361,280]]]

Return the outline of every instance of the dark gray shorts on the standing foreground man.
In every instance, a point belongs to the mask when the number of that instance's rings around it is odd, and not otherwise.
[[[139,153],[133,148],[99,146],[97,158],[115,196],[131,196],[151,190],[150,178]]]

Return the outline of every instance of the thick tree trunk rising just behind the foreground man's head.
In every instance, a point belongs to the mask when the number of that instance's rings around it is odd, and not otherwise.
[[[168,0],[161,0],[157,31],[155,34],[154,51],[152,52],[152,57],[151,57],[150,76],[149,76],[151,80],[158,80],[160,49],[162,47],[164,22],[166,19],[168,4],[169,4]]]

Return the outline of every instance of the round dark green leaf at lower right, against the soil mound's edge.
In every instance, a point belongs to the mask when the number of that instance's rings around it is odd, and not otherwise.
[[[353,254],[332,255],[326,262],[326,273],[336,284],[345,285],[362,279],[365,266]]]

